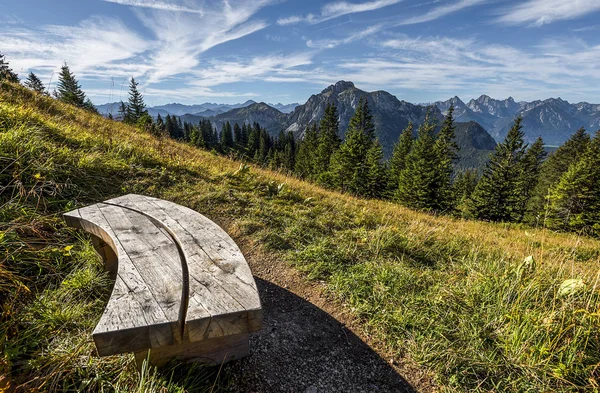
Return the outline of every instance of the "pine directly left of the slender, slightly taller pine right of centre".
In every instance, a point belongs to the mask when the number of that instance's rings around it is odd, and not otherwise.
[[[398,178],[394,199],[414,209],[439,209],[435,190],[439,165],[434,150],[434,131],[435,124],[428,115],[419,126],[417,139],[406,156],[404,169]]]

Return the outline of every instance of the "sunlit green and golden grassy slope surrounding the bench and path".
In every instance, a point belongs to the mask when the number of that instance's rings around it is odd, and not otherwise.
[[[89,240],[58,217],[128,192],[227,222],[234,236],[324,280],[365,334],[432,369],[444,389],[578,391],[600,382],[596,240],[433,217],[255,167],[239,171],[239,162],[6,84],[0,160],[8,184],[0,194],[1,361],[15,381],[38,377],[28,386],[139,388],[130,357],[91,356],[89,333],[109,284]],[[523,263],[529,255],[535,262]],[[568,278],[586,287],[560,296]],[[214,375],[203,378],[196,387]],[[183,389],[177,381],[145,382]]]

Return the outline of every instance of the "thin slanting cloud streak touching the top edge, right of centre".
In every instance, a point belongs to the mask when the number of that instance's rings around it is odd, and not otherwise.
[[[402,0],[374,0],[365,3],[348,3],[346,1],[338,1],[325,4],[321,8],[320,15],[308,14],[306,16],[292,15],[277,20],[280,26],[293,25],[300,22],[320,23],[329,19],[337,18],[342,15],[354,14],[358,12],[374,11],[379,8],[397,4]]]

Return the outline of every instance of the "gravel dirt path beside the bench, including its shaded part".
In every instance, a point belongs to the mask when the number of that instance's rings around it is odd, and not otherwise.
[[[373,348],[323,286],[236,239],[256,278],[263,329],[228,368],[239,392],[432,392],[431,378]],[[371,344],[371,345],[369,345]]]

